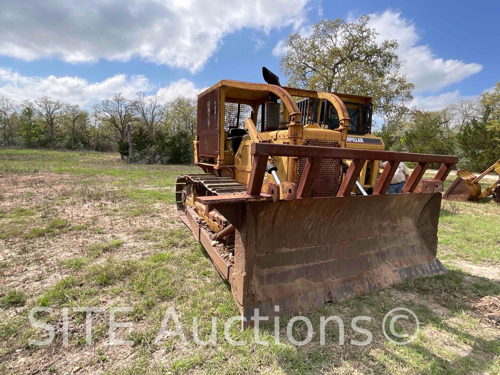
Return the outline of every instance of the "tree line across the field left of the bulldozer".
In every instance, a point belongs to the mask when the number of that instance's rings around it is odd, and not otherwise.
[[[188,163],[196,124],[196,101],[178,96],[116,93],[90,110],[43,96],[15,105],[0,97],[4,146],[118,151],[130,162]]]

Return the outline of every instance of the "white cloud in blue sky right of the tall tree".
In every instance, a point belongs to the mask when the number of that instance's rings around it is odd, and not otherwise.
[[[370,14],[370,17],[369,26],[379,33],[379,41],[397,39],[397,54],[403,65],[401,72],[415,84],[415,92],[439,90],[482,69],[482,65],[475,62],[444,60],[436,56],[428,45],[418,44],[420,35],[415,24],[401,17],[400,12],[387,9],[383,13]]]

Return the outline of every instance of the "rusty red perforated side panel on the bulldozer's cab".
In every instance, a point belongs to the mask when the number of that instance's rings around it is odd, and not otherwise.
[[[217,157],[220,138],[220,88],[198,95],[196,134],[199,155]]]

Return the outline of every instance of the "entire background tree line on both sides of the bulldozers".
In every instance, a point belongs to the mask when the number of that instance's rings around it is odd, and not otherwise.
[[[192,161],[196,102],[178,96],[160,103],[138,92],[117,93],[91,110],[44,96],[14,105],[0,97],[0,141],[5,146],[118,151],[130,162]],[[405,108],[381,124],[385,149],[460,156],[459,167],[482,171],[500,158],[500,82],[491,92],[443,109]]]

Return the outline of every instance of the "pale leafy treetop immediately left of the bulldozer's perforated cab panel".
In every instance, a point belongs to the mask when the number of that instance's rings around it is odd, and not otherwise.
[[[170,133],[183,130],[194,135],[196,129],[196,102],[193,99],[177,96],[166,103],[165,123]]]

